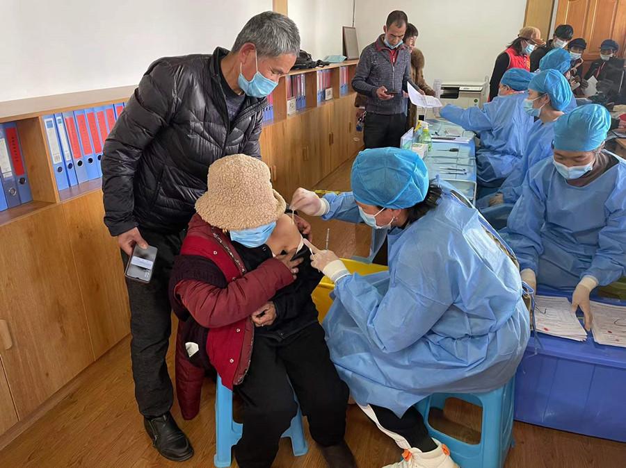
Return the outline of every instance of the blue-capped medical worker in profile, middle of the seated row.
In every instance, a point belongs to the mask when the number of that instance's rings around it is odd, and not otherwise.
[[[528,94],[528,99],[523,103],[524,111],[538,119],[527,135],[522,162],[513,169],[497,194],[488,195],[476,202],[476,208],[497,229],[506,226],[513,204],[522,193],[522,183],[529,168],[552,156],[554,122],[564,114],[563,109],[572,99],[570,83],[563,74],[554,69],[533,76],[528,85]],[[506,203],[506,206],[490,209],[502,203]]]

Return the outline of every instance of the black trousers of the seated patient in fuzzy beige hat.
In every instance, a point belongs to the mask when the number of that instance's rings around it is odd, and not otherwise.
[[[317,443],[344,440],[348,387],[330,361],[320,324],[284,341],[255,337],[250,369],[234,390],[244,403],[243,435],[234,450],[241,468],[271,467],[280,436],[298,410],[294,392]]]

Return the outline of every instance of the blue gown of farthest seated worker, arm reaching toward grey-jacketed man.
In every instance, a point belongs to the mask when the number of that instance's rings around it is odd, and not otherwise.
[[[440,111],[444,119],[479,133],[476,176],[484,187],[499,187],[522,160],[526,137],[533,125],[533,117],[522,106],[527,97],[527,92],[521,92],[496,97],[483,104],[482,109],[445,106]]]

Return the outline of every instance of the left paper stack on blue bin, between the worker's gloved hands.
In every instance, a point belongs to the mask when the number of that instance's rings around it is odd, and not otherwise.
[[[536,296],[535,326],[535,331],[546,335],[576,341],[587,339],[585,329],[572,312],[570,301],[564,297]]]

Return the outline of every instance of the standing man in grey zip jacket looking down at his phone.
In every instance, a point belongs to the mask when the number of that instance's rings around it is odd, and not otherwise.
[[[367,97],[365,104],[365,148],[399,147],[406,128],[403,92],[412,83],[411,54],[402,42],[408,18],[395,10],[387,17],[383,35],[361,52],[352,87]]]

